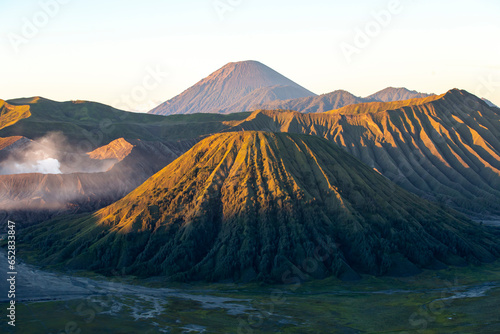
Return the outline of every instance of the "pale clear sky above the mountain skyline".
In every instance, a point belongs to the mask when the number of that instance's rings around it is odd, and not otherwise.
[[[147,111],[258,60],[317,94],[461,88],[500,105],[498,0],[0,0],[0,12],[1,99]]]

